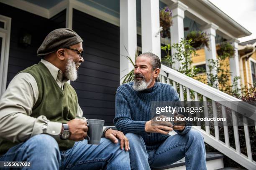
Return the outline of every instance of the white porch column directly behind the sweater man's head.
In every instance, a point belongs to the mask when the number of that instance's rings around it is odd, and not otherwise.
[[[141,0],[142,52],[152,52],[161,58],[159,0]]]

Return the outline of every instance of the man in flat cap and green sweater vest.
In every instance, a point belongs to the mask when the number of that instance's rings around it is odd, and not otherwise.
[[[0,161],[26,161],[37,170],[130,169],[120,131],[104,128],[100,145],[84,139],[87,122],[67,82],[84,61],[82,41],[73,30],[53,30],[37,51],[41,61],[10,82],[0,99]]]

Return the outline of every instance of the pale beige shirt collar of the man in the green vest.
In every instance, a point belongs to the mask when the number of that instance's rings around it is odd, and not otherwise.
[[[54,77],[54,80],[60,80],[61,82],[67,82],[68,79],[66,77],[64,77],[64,79],[62,80],[63,77],[63,73],[62,71],[56,67],[55,65],[53,65],[51,62],[46,61],[44,59],[41,59],[41,62],[48,68],[48,70],[51,72],[52,77]]]

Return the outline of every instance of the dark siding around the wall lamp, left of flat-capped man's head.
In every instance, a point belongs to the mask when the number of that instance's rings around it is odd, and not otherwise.
[[[62,11],[49,20],[0,3],[0,14],[12,18],[7,77],[8,86],[10,80],[19,71],[40,61],[40,57],[36,56],[38,47],[51,30],[65,27],[66,11]],[[27,47],[19,44],[19,37],[23,32],[32,35],[31,45]]]

